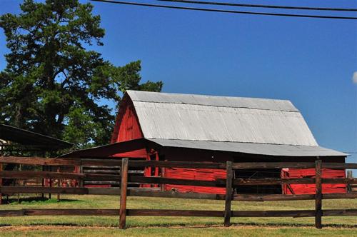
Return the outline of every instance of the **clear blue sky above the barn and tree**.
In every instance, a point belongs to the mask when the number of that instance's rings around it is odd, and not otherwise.
[[[2,0],[0,14],[18,13],[20,2]],[[268,3],[357,8],[351,0]],[[357,21],[92,4],[106,29],[104,46],[92,49],[113,64],[140,59],[143,80],[164,81],[165,92],[291,100],[321,146],[357,151]],[[5,44],[1,31],[0,69]]]

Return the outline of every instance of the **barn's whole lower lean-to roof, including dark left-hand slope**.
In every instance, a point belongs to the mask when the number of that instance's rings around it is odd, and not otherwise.
[[[64,157],[111,157],[120,153],[128,153],[146,149],[146,151],[159,151],[165,155],[170,148],[192,149],[196,151],[215,151],[222,153],[253,154],[261,156],[291,156],[291,157],[316,157],[316,156],[348,156],[346,153],[334,151],[321,146],[296,146],[266,143],[240,143],[221,141],[189,141],[157,138],[139,138],[130,141],[111,143],[105,146],[74,151]]]

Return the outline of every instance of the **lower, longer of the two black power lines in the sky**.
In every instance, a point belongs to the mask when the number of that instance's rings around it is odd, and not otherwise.
[[[149,6],[149,7],[158,7],[158,8],[166,8],[166,9],[181,9],[181,10],[191,10],[191,11],[211,11],[211,12],[221,12],[221,13],[231,13],[231,14],[250,14],[250,15],[262,15],[262,16],[292,16],[292,17],[320,18],[320,19],[357,20],[357,17],[352,17],[352,16],[318,16],[318,15],[301,15],[301,14],[277,14],[277,13],[256,12],[256,11],[231,11],[231,10],[221,10],[221,9],[201,9],[201,8],[184,7],[184,6],[141,4],[141,3],[129,2],[129,1],[111,1],[111,0],[91,0],[91,1],[100,1],[100,2],[105,2],[105,3],[110,3],[110,4]]]

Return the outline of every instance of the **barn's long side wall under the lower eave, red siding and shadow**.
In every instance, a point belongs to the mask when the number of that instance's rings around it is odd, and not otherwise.
[[[200,151],[186,148],[171,148],[165,150],[165,159],[169,161],[210,161],[210,162],[314,162],[313,157],[268,157],[255,155],[233,156],[232,153],[216,151]],[[344,157],[325,157],[323,162],[345,162]],[[251,170],[250,170],[251,171]],[[315,170],[312,169],[289,169],[290,173],[286,176],[291,178],[314,177]],[[242,172],[238,172],[242,173]],[[344,170],[323,169],[323,178],[344,178]],[[166,168],[165,176],[167,178],[183,178],[194,180],[213,181],[216,178],[226,178],[225,170],[214,169],[188,169],[188,168]],[[282,173],[283,176],[283,173]],[[178,186],[166,185],[165,190],[175,189],[181,192],[202,192],[202,193],[225,193],[224,188],[198,187],[198,186]],[[291,185],[296,194],[315,193],[315,185]],[[291,194],[287,186],[283,186],[283,193]],[[343,184],[323,184],[323,193],[344,193],[346,185]]]

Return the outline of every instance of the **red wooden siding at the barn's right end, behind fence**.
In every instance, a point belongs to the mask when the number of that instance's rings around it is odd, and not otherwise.
[[[315,178],[314,168],[288,168],[283,169],[282,176],[285,178]],[[322,178],[346,178],[344,170],[335,170],[331,168],[322,169]],[[315,184],[291,184],[294,194],[314,194]],[[287,185],[283,185],[283,193],[293,194]],[[346,193],[345,184],[322,184],[322,193]]]

